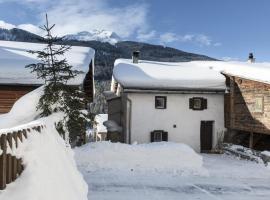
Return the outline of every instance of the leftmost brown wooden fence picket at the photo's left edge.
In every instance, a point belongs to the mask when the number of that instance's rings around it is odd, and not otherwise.
[[[2,154],[0,155],[0,190],[6,188],[6,152],[7,152],[7,138],[2,134],[0,137],[0,148]]]

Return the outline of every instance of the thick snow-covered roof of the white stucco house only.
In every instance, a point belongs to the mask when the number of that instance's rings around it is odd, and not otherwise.
[[[225,90],[220,72],[195,66],[192,62],[154,62],[118,59],[113,70],[115,80],[129,89]]]

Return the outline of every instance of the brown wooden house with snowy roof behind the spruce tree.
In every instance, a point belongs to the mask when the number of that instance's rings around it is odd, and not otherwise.
[[[35,55],[28,50],[42,50],[44,44],[0,41],[0,114],[7,113],[17,99],[44,84],[25,66],[37,63]],[[73,46],[65,57],[70,65],[83,73],[68,84],[82,86],[89,102],[94,93],[94,54],[87,47]]]

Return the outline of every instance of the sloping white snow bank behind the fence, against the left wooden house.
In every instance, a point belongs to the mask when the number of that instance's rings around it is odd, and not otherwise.
[[[29,123],[39,117],[37,105],[43,93],[43,86],[24,95],[16,101],[9,113],[0,115],[0,129]]]

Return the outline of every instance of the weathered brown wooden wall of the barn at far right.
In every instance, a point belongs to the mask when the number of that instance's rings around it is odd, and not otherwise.
[[[270,84],[227,75],[225,126],[232,130],[270,134]],[[262,111],[256,110],[262,99]]]

